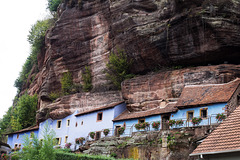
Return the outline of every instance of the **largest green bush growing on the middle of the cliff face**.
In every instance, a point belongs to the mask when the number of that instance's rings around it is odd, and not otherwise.
[[[106,76],[116,87],[121,89],[121,82],[125,79],[134,77],[130,74],[131,61],[128,60],[127,54],[118,49],[117,53],[110,53],[109,62],[107,63]]]

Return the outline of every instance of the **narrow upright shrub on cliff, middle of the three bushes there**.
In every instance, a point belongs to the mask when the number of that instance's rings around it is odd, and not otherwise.
[[[83,78],[83,91],[88,92],[92,89],[92,76],[89,66],[85,66],[85,71],[82,74]]]

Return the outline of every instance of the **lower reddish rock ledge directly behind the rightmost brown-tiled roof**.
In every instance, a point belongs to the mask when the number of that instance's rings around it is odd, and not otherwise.
[[[147,110],[159,106],[159,101],[178,98],[186,85],[227,83],[237,77],[240,65],[230,64],[159,71],[124,81],[122,94],[129,110]]]

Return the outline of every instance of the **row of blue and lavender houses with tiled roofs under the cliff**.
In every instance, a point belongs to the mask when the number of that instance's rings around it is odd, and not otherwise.
[[[135,124],[142,122],[150,124],[146,130],[153,130],[151,123],[156,121],[161,123],[160,130],[169,129],[168,121],[173,119],[181,119],[184,123],[171,128],[191,127],[193,117],[203,119],[198,125],[216,124],[216,114],[229,115],[239,105],[239,84],[240,79],[237,78],[225,84],[186,86],[177,101],[168,99],[159,107],[147,111],[130,112],[123,101],[87,111],[75,111],[62,119],[49,118],[41,122],[39,127],[34,126],[10,133],[8,144],[12,148],[21,148],[24,134],[31,136],[31,133],[35,133],[38,139],[42,139],[42,128],[45,124],[55,131],[58,146],[64,147],[66,143],[72,143],[72,150],[78,147],[75,143],[76,138],[98,140],[104,136],[104,129],[109,129],[108,136],[131,136],[133,132],[139,131],[134,127]],[[118,134],[120,127],[125,128],[122,135]],[[93,139],[89,136],[90,132],[95,132]]]

